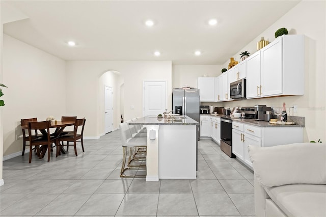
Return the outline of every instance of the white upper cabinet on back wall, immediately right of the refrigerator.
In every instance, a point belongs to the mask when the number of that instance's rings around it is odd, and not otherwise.
[[[201,102],[213,102],[214,101],[214,77],[199,77],[198,89]],[[215,100],[216,101],[216,100]]]

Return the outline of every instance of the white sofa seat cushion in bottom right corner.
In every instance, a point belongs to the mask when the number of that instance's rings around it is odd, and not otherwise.
[[[288,184],[265,189],[288,216],[326,216],[326,185]]]

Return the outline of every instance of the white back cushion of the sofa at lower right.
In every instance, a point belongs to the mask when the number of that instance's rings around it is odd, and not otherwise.
[[[248,146],[255,176],[263,187],[284,184],[326,184],[326,145],[295,143]]]

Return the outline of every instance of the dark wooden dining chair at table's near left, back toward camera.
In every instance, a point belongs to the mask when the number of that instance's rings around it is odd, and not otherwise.
[[[57,138],[53,135],[50,135],[50,121],[29,121],[28,122],[29,130],[29,142],[30,142],[30,158],[29,163],[32,162],[32,147],[36,146],[37,155],[44,155],[47,151],[47,161],[50,161],[50,149],[52,143],[57,144]],[[33,137],[32,130],[43,131],[42,137]],[[40,150],[40,146],[42,149]],[[42,152],[42,153],[41,153]]]

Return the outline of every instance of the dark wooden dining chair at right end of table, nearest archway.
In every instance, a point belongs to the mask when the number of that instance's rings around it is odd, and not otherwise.
[[[69,149],[69,146],[74,146],[75,155],[78,156],[76,143],[80,142],[80,143],[82,143],[82,149],[83,149],[83,152],[84,152],[85,150],[84,150],[83,134],[84,134],[85,122],[86,122],[85,118],[81,118],[81,119],[76,118],[75,124],[74,124],[74,127],[73,127],[74,128],[73,132],[61,135],[58,138],[59,146],[63,145],[63,142],[67,142],[67,144],[66,144],[67,145],[67,151]],[[80,131],[80,134],[79,134],[78,133],[78,128],[80,128],[80,126],[82,127],[82,130]],[[80,140],[80,141],[77,141],[77,140]],[[60,144],[60,142],[62,142],[62,144]],[[73,142],[73,144],[70,145],[69,142]]]

